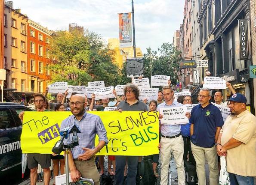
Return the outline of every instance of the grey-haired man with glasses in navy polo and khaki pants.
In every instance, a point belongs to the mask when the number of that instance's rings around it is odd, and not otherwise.
[[[216,142],[224,124],[219,108],[209,102],[213,92],[208,88],[200,89],[199,103],[191,111],[190,135],[191,149],[197,165],[197,177],[200,185],[206,185],[205,156],[209,164],[210,185],[217,185],[219,169]]]

